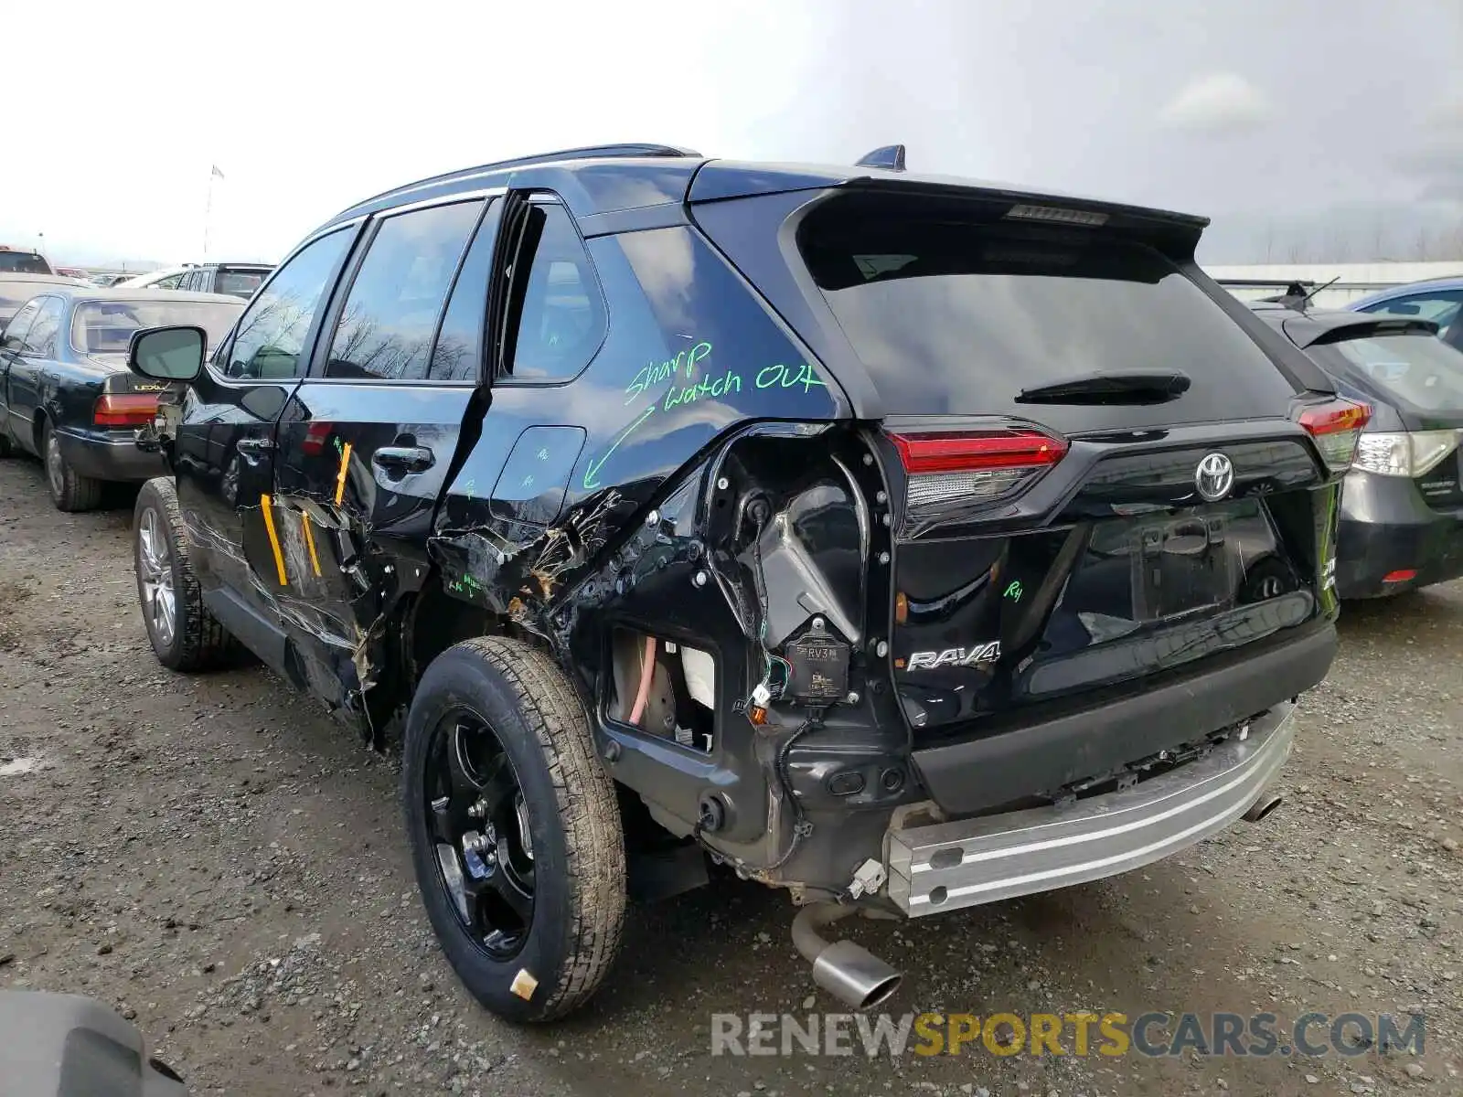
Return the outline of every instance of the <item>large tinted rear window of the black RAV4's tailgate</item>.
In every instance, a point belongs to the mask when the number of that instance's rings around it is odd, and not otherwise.
[[[900,215],[909,206],[819,211],[799,233],[890,412],[1009,414],[1067,430],[1285,414],[1290,383],[1159,252],[1094,230]],[[1192,385],[1169,404],[1106,411],[1015,401],[1023,388],[1135,370],[1181,370]]]

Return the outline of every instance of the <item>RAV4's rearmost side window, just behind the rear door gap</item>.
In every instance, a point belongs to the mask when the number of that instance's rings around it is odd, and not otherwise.
[[[516,380],[568,380],[594,357],[604,339],[604,297],[590,253],[569,212],[560,205],[533,205],[524,241],[537,246],[514,262],[509,316],[518,312],[518,333],[505,372]]]

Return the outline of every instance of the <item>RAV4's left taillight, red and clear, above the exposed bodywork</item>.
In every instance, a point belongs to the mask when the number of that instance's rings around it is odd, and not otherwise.
[[[1028,487],[1067,453],[1067,442],[1040,430],[890,434],[909,474],[906,516],[980,505]]]

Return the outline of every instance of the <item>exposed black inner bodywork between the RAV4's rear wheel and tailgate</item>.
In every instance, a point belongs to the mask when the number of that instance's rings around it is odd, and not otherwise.
[[[850,429],[742,431],[652,503],[553,617],[616,780],[669,831],[765,882],[837,891],[878,856],[892,807],[917,799],[879,655],[888,531],[868,455]],[[808,671],[828,663],[835,695]]]

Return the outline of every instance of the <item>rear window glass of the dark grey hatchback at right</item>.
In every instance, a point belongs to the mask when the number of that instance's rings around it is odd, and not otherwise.
[[[1362,380],[1416,411],[1463,408],[1463,351],[1428,332],[1397,332],[1311,347],[1323,369]]]

